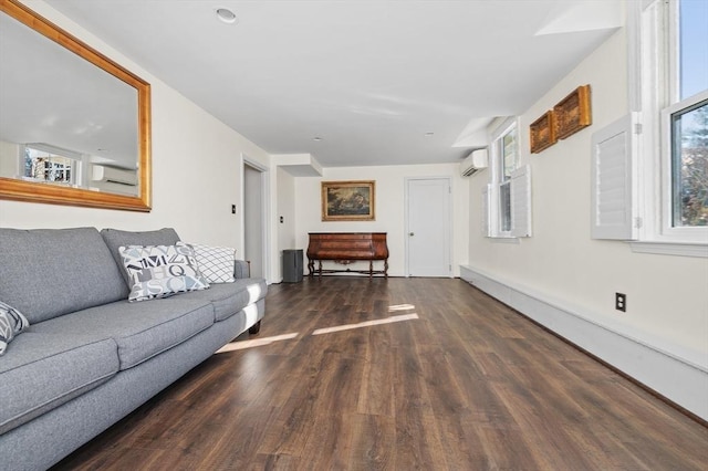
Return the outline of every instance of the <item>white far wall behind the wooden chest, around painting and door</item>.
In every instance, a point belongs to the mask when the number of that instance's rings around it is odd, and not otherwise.
[[[306,250],[308,232],[387,232],[388,274],[405,276],[405,184],[407,177],[451,177],[452,268],[454,275],[459,276],[459,264],[467,261],[468,253],[469,193],[468,179],[459,176],[458,164],[336,167],[325,168],[322,178],[296,178],[296,248]],[[330,180],[375,180],[376,220],[323,222],[321,182]],[[378,263],[381,264],[381,262]],[[378,266],[376,265],[376,268]]]

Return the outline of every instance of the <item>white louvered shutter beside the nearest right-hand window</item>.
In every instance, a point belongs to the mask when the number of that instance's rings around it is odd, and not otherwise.
[[[635,240],[634,114],[597,130],[592,136],[591,237]]]

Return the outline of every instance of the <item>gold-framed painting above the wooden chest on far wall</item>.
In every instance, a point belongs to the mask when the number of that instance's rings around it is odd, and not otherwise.
[[[323,181],[323,221],[374,221],[376,181]]]

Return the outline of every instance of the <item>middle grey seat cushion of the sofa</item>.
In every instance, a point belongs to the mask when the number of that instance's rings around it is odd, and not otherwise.
[[[214,307],[208,302],[181,294],[143,303],[118,301],[31,328],[46,334],[84,332],[96,339],[113,338],[118,346],[119,369],[123,370],[185,342],[212,324]]]

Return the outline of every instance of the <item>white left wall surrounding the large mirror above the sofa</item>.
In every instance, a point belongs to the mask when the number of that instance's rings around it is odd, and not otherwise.
[[[187,241],[242,247],[240,218],[231,214],[232,203],[242,207],[241,154],[264,167],[269,166],[270,156],[45,3],[28,4],[150,83],[153,211],[138,213],[0,200],[0,226],[93,226],[126,230],[174,227]]]

